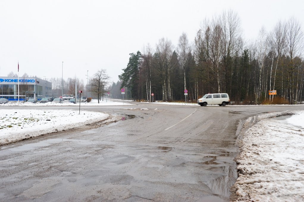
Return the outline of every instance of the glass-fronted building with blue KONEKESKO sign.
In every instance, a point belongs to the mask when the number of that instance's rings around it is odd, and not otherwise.
[[[36,77],[19,77],[19,100],[54,97],[52,83]],[[18,77],[0,77],[0,98],[18,100]]]

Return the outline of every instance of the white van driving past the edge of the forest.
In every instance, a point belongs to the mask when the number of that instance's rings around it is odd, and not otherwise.
[[[218,104],[219,106],[225,106],[229,103],[230,100],[227,93],[205,94],[202,98],[197,100],[197,104],[201,106],[206,106],[207,104]]]

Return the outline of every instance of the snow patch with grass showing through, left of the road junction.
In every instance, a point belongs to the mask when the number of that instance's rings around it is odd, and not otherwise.
[[[0,110],[0,145],[17,142],[50,132],[59,132],[97,121],[105,120],[108,114],[75,110]]]

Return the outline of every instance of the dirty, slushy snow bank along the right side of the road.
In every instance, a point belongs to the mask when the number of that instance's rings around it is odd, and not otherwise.
[[[304,201],[303,118],[265,118],[247,130],[233,201]]]

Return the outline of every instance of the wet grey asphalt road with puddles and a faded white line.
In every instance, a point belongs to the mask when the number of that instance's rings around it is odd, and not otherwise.
[[[82,109],[122,120],[2,146],[0,201],[229,201],[244,120],[304,106]]]

